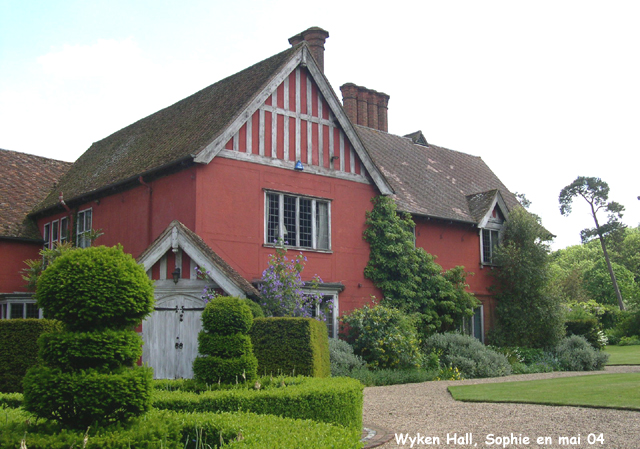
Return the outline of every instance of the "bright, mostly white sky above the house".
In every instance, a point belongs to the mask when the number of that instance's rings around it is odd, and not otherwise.
[[[319,26],[338,94],[384,92],[389,132],[482,157],[559,249],[593,226],[559,212],[578,176],[640,223],[639,21],[625,0],[0,0],[0,148],[74,161]]]

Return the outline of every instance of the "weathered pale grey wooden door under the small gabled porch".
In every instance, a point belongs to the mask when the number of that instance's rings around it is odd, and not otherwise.
[[[174,294],[158,298],[155,311],[142,323],[142,361],[154,379],[190,379],[202,330],[202,299]]]

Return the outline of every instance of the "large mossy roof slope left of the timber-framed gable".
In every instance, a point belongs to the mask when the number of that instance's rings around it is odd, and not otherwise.
[[[265,59],[95,142],[34,212],[190,158],[242,112],[304,43]]]

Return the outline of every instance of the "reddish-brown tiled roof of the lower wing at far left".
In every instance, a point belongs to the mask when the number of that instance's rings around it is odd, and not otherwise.
[[[69,170],[70,162],[0,149],[0,237],[41,239],[27,213]]]

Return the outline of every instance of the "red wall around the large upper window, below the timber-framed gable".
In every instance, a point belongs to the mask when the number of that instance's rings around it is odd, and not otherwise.
[[[332,253],[302,251],[308,259],[303,279],[317,274],[324,282],[344,284],[341,314],[369,302],[371,295],[381,297],[364,278],[369,245],[362,232],[377,194],[373,185],[221,157],[199,167],[197,184],[195,232],[249,281],[262,276],[274,252],[264,245],[264,189],[331,200]]]

